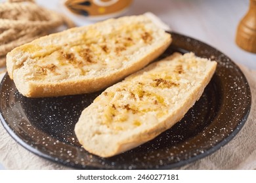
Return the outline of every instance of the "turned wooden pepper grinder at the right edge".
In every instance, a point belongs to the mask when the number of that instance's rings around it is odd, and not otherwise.
[[[236,44],[248,52],[256,53],[256,0],[250,0],[249,10],[238,25]]]

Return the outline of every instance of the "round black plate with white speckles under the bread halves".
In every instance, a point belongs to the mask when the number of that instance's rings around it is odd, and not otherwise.
[[[191,51],[215,59],[218,66],[200,100],[156,139],[112,158],[93,156],[77,142],[74,125],[100,92],[30,99],[18,93],[8,75],[0,88],[5,129],[34,154],[77,169],[172,169],[215,152],[245,124],[251,107],[249,85],[240,69],[215,48],[177,33],[172,36],[161,58]]]

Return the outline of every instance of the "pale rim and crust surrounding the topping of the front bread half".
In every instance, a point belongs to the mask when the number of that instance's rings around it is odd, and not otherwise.
[[[205,62],[205,59],[196,58],[192,53],[185,54],[184,56],[180,56],[179,54],[174,54],[169,58],[163,59],[163,61],[168,60],[168,61],[178,62],[179,60],[184,61],[184,59],[187,59],[187,58],[196,60],[196,62],[198,61]],[[131,80],[134,80],[134,79],[139,80],[139,82],[142,82],[144,78],[142,79],[138,79],[138,78],[140,78],[141,75],[147,75],[146,73],[152,72],[152,70],[154,70],[156,67],[159,67],[158,66],[159,63],[158,62],[152,63],[145,69],[142,69],[142,71],[139,71],[131,76],[128,76],[127,78],[125,78],[125,80],[123,80],[123,82],[119,82],[114,86],[111,86],[110,88],[105,90],[105,92],[103,92],[99,97],[97,97],[93,102],[93,104],[91,104],[89,107],[83,110],[79,118],[79,121],[75,125],[75,134],[77,135],[77,139],[83,145],[83,148],[85,148],[85,150],[87,150],[92,154],[96,154],[97,156],[101,156],[104,158],[115,156],[117,154],[120,154],[121,152],[125,152],[127,150],[130,150],[132,148],[139,146],[140,144],[143,144],[144,142],[154,139],[160,133],[162,133],[166,129],[169,129],[174,124],[179,122],[179,120],[183,118],[183,116],[186,114],[189,108],[191,108],[194,105],[194,103],[198,99],[200,99],[200,96],[202,95],[205,86],[207,86],[207,84],[211,80],[211,77],[215,73],[215,69],[217,66],[217,63],[215,61],[206,61],[206,62],[207,63],[205,63],[205,68],[203,67],[200,68],[200,69],[205,69],[205,73],[202,74],[203,78],[201,79],[196,78],[195,80],[197,81],[194,86],[190,86],[190,83],[188,84],[187,87],[190,87],[190,89],[186,89],[187,91],[184,93],[184,96],[182,96],[181,98],[179,98],[179,100],[176,101],[178,105],[176,104],[169,105],[168,112],[167,114],[163,115],[163,118],[156,117],[157,114],[155,116],[150,116],[148,118],[145,118],[145,120],[142,122],[142,125],[144,125],[143,123],[147,123],[147,124],[141,128],[135,126],[129,129],[129,127],[133,125],[133,123],[129,123],[130,126],[128,125],[128,127],[125,127],[123,131],[121,130],[120,132],[118,130],[116,131],[114,127],[115,120],[110,121],[109,124],[104,122],[104,118],[102,118],[102,116],[104,116],[105,114],[102,111],[106,110],[106,108],[109,105],[113,105],[111,104],[111,101],[117,95],[116,94],[114,95],[114,97],[108,98],[106,97],[106,93],[110,93],[110,92],[117,93],[118,91],[120,91],[120,88],[123,87],[123,83],[130,82]],[[183,67],[186,67],[186,64],[188,63],[184,63]],[[160,67],[163,67],[163,66],[160,66]],[[168,65],[166,65],[166,69],[167,71],[171,70],[170,67],[168,67]],[[193,83],[193,81],[191,81],[191,83]],[[171,91],[175,91],[175,90],[171,90]],[[156,93],[158,92],[160,92],[160,90],[156,90]],[[173,97],[172,93],[169,93],[169,94],[170,94],[169,97]],[[154,97],[154,94],[152,95],[152,97]],[[161,95],[161,97],[163,97],[164,100],[166,101],[168,100],[167,96]],[[116,100],[116,103],[114,103],[115,110],[118,106],[117,103],[118,103],[118,100]],[[121,99],[121,103],[125,103],[125,99]],[[140,101],[138,100],[135,103],[136,103],[135,105],[139,105]],[[105,109],[102,109],[99,106],[104,106]],[[141,108],[144,108],[144,106],[140,106],[139,108],[140,108],[139,110],[143,110]],[[171,110],[171,108],[175,108],[175,110]],[[147,111],[147,112],[148,113],[146,115],[150,115],[150,111]],[[112,115],[116,115],[113,113],[113,111],[110,111],[110,113],[112,113]],[[135,113],[131,115],[136,116],[137,114]],[[131,118],[135,119],[134,116],[132,116]],[[148,123],[146,119],[151,120],[152,118],[157,118],[157,119],[152,124]],[[122,123],[125,124],[126,122],[122,122]],[[108,145],[104,146],[105,143]]]

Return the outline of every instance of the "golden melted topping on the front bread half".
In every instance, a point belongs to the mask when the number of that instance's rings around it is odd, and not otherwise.
[[[116,87],[105,90],[95,99],[102,107],[102,125],[120,131],[165,118],[173,110],[170,106],[175,108],[177,101],[190,92],[195,84],[192,76],[203,75],[199,68],[205,62],[186,62],[162,62],[160,67],[131,75]]]

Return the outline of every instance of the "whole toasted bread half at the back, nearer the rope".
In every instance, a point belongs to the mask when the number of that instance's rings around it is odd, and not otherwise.
[[[19,46],[7,54],[7,70],[27,97],[89,93],[138,71],[170,43],[147,16],[126,16]]]

